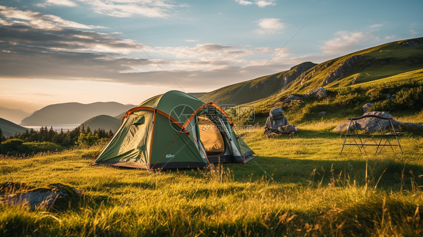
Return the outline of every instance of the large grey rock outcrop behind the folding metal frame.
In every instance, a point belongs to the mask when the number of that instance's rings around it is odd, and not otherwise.
[[[379,111],[367,112],[367,113],[364,113],[363,115],[378,115],[378,116],[381,116],[381,117],[393,117],[388,112],[379,112]],[[381,122],[382,126],[385,125],[386,121],[388,121],[388,120],[379,119],[379,122]],[[364,130],[366,133],[373,133],[373,132],[380,130],[380,126],[379,126],[376,118],[363,118],[363,119],[355,120],[355,123],[356,123],[357,129]],[[335,131],[335,132],[345,132],[345,131],[347,131],[349,124],[350,124],[350,121],[348,120],[348,122],[343,123],[343,124],[335,127],[333,129],[333,131]],[[399,122],[399,121],[396,121],[395,119],[392,119],[392,124],[393,124],[393,127],[395,128],[395,130],[398,129],[398,126],[403,126],[403,127],[407,127],[407,128],[423,129],[423,125],[415,124],[415,123],[412,123],[412,122]],[[388,124],[388,127],[387,127],[388,131],[389,131],[389,127],[390,127],[390,125]]]

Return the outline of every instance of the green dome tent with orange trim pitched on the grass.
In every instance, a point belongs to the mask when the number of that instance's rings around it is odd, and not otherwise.
[[[127,111],[92,165],[172,169],[245,163],[255,153],[233,126],[218,105],[171,90]]]

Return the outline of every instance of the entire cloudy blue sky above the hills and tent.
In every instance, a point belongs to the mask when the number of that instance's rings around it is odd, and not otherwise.
[[[423,36],[421,0],[0,0],[0,106],[139,104]]]

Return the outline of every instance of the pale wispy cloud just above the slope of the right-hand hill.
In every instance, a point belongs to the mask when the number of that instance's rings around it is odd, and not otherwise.
[[[380,41],[379,36],[369,32],[338,31],[335,35],[337,36],[325,41],[320,47],[327,55],[351,53]]]

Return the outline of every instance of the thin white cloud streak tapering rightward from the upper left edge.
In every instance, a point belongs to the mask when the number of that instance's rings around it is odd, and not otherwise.
[[[61,28],[77,29],[99,29],[100,26],[88,26],[73,21],[67,21],[61,17],[49,14],[43,14],[33,11],[21,11],[14,7],[0,5],[0,16],[4,19],[1,25],[24,25],[35,29],[60,30]]]

